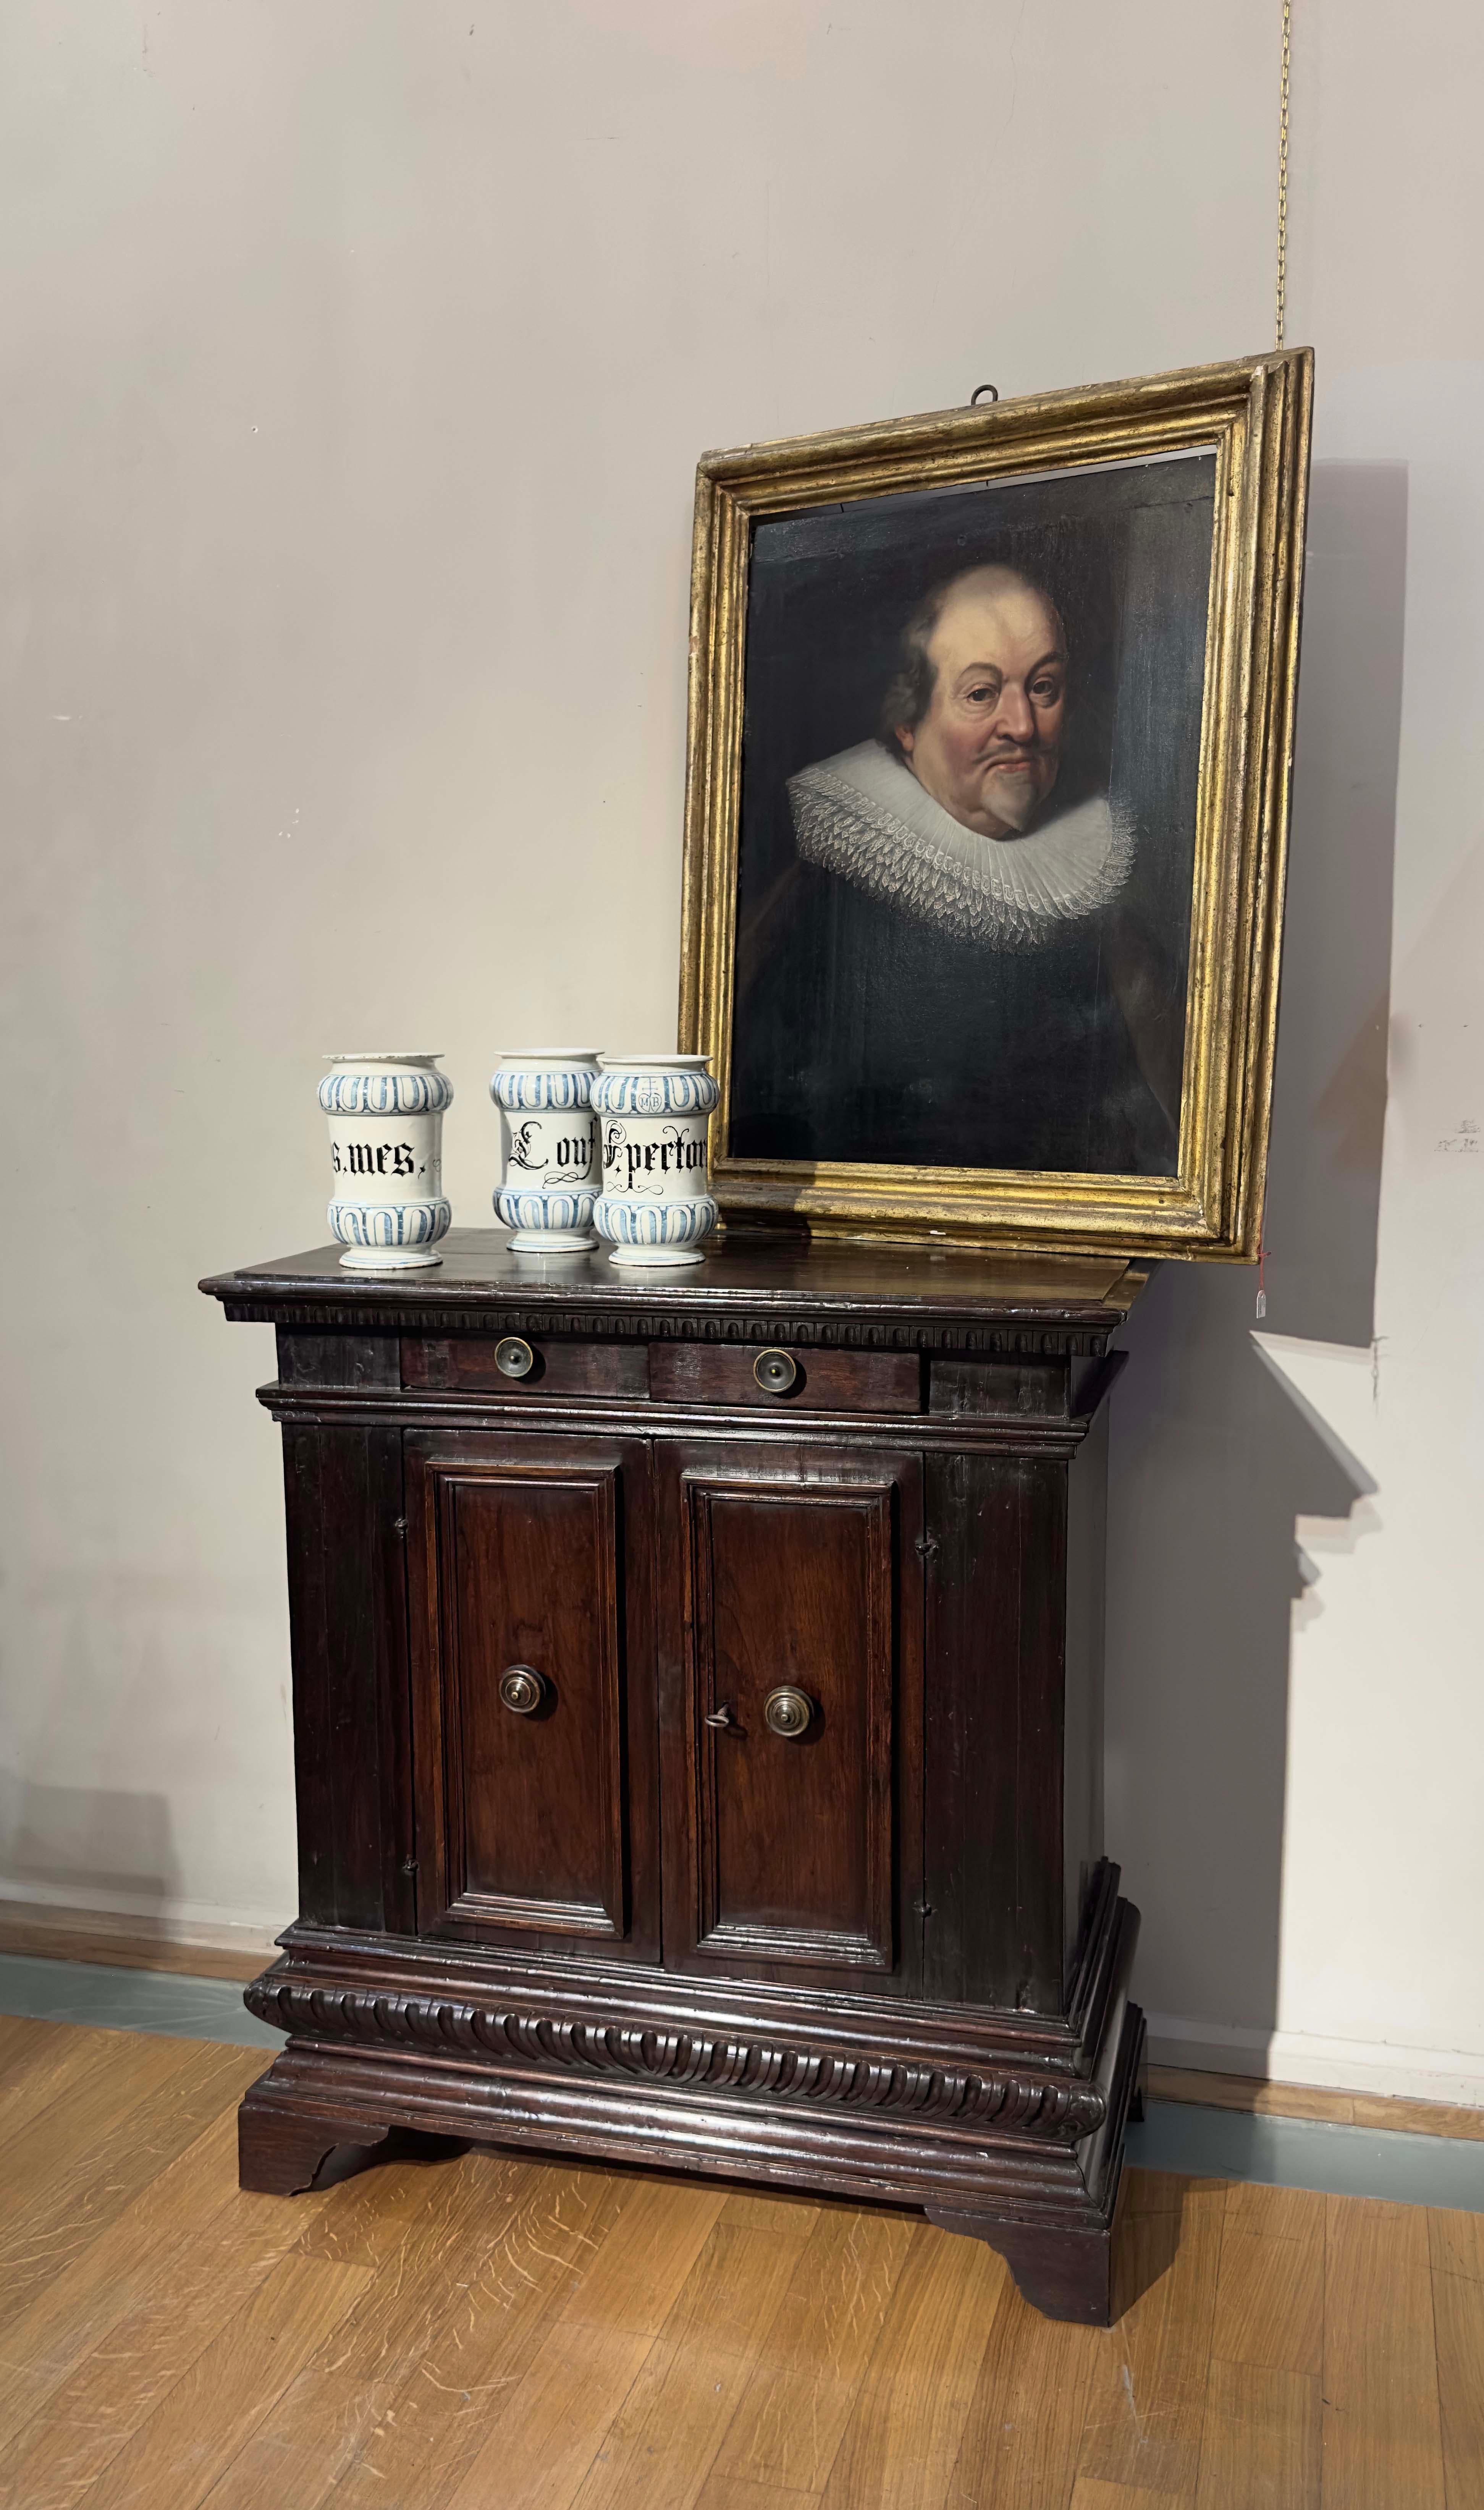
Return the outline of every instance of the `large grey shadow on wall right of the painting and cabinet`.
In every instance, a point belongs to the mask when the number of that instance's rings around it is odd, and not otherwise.
[[[1361,1348],[1386,1117],[1404,600],[1406,467],[1316,462],[1266,1323]],[[1233,2071],[1266,2071],[1278,2013],[1288,1647],[1308,1584],[1293,1529],[1298,1516],[1343,1521],[1374,1488],[1263,1360],[1253,1303],[1248,1268],[1158,1273],[1130,1318],[1107,1521],[1107,1842],[1143,1908],[1137,1993],[1155,2056]],[[1210,2028],[1245,2038],[1213,2056]]]

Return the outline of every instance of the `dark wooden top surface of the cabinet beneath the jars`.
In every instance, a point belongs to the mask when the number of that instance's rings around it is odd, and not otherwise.
[[[841,1240],[728,1235],[701,1263],[623,1273],[595,1255],[512,1255],[502,1230],[449,1230],[442,1265],[419,1273],[352,1273],[339,1247],[279,1255],[201,1283],[229,1315],[264,1323],[334,1323],[439,1330],[510,1308],[565,1308],[600,1330],[633,1310],[683,1315],[891,1313],[954,1320],[1117,1325],[1145,1275],[1122,1258],[977,1255]]]

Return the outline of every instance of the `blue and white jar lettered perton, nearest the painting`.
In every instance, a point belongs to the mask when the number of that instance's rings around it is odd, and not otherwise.
[[[603,1127],[603,1192],[593,1205],[608,1260],[701,1263],[718,1210],[706,1127],[721,1089],[708,1054],[605,1054],[593,1107]]]

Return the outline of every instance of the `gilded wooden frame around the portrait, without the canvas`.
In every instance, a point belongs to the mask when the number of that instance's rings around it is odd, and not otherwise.
[[[1253,1260],[1293,771],[1313,351],[703,454],[691,572],[680,1047],[721,1082],[723,1215],[819,1235]],[[733,1160],[733,934],[751,527],[994,474],[1215,449],[1175,1177]]]

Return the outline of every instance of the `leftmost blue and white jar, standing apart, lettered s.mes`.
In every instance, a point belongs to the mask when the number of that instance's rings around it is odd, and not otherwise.
[[[319,1084],[329,1117],[329,1227],[352,1273],[442,1263],[452,1210],[442,1192],[442,1117],[454,1084],[437,1054],[331,1054]]]

